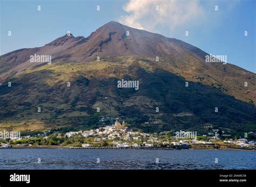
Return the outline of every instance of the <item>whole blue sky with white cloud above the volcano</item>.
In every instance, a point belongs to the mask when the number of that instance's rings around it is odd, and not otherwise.
[[[98,27],[115,20],[183,40],[213,55],[227,55],[228,63],[256,73],[254,0],[0,1],[1,55],[20,48],[43,46],[67,31],[75,37],[87,37]],[[41,11],[37,10],[38,5]],[[96,10],[97,5],[100,11]],[[214,10],[216,5],[218,11]]]

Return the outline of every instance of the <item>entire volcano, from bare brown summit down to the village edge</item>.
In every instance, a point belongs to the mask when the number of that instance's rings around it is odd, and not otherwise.
[[[51,64],[31,63],[35,54],[50,55]],[[208,124],[231,132],[254,130],[255,74],[231,63],[206,62],[207,55],[181,40],[116,21],[87,38],[65,34],[42,47],[4,54],[0,128],[91,128],[102,125],[100,116],[110,116],[152,132],[203,131]],[[139,81],[139,89],[118,88],[120,80]]]

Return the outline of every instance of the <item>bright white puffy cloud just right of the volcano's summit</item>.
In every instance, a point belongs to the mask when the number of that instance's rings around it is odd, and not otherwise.
[[[159,10],[156,10],[156,6]],[[134,28],[155,30],[157,25],[167,25],[170,30],[200,18],[204,9],[198,0],[130,0],[123,6],[129,14],[119,22]]]

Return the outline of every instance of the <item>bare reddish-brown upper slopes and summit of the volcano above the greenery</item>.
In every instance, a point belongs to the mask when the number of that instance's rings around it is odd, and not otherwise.
[[[126,36],[127,31],[129,31],[129,36]],[[188,81],[198,81],[199,77],[199,81],[207,85],[212,84],[212,81],[216,82],[214,86],[218,88],[219,85],[225,84],[218,77],[224,79],[233,79],[234,77],[237,79],[239,77],[242,81],[236,80],[234,87],[233,83],[232,85],[228,83],[223,90],[240,100],[256,103],[256,85],[253,83],[256,82],[256,76],[254,73],[230,63],[225,64],[225,66],[222,66],[221,63],[207,63],[204,58],[208,54],[198,47],[181,40],[167,38],[161,34],[131,28],[116,21],[104,24],[86,38],[82,36],[74,37],[71,33],[70,35],[65,34],[42,47],[18,49],[0,56],[0,60],[4,64],[2,66],[0,64],[0,84],[10,74],[19,75],[26,69],[39,66],[38,63],[29,62],[31,54],[52,55],[52,63],[58,61],[68,63],[90,62],[95,60],[97,56],[137,55],[161,58],[169,55],[170,58],[183,63],[174,64],[174,67],[173,64],[170,64],[172,67],[169,69],[180,76],[184,76]],[[187,60],[185,55],[193,56]],[[170,59],[163,58],[166,61]],[[191,59],[197,63],[191,62]],[[193,72],[191,72],[191,69],[193,69]],[[214,77],[214,80],[202,80],[200,78],[207,78],[208,76]],[[250,78],[252,79],[250,80]],[[245,82],[252,82],[251,87],[253,89],[246,90],[242,95],[237,94],[236,91],[240,92],[242,84]]]

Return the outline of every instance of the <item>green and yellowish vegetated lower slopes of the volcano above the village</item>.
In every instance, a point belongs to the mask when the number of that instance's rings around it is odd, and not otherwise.
[[[210,77],[214,81],[201,78],[207,75],[207,68],[195,68],[201,74],[193,77],[188,71],[191,67],[180,72],[181,67],[174,61],[177,62],[165,56],[160,56],[159,62],[150,57],[106,56],[100,61],[45,64],[28,69],[9,77],[0,87],[0,128],[92,128],[102,125],[100,116],[110,116],[151,132],[198,130],[208,124],[230,131],[255,129],[254,105],[223,93],[221,89],[226,85],[218,88],[218,77]],[[191,66],[196,67],[197,62]],[[233,68],[229,64],[226,67]],[[139,89],[117,88],[117,81],[122,78],[138,80]],[[242,91],[247,89],[236,86]],[[97,107],[100,112],[96,112]]]

